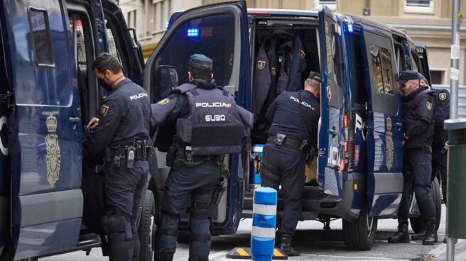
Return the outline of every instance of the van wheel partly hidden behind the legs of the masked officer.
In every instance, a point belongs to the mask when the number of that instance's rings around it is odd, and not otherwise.
[[[156,215],[156,203],[152,191],[146,191],[141,214],[141,226],[139,226],[139,240],[141,241],[141,252],[139,260],[152,261],[153,242],[156,238],[156,225],[153,222]]]

